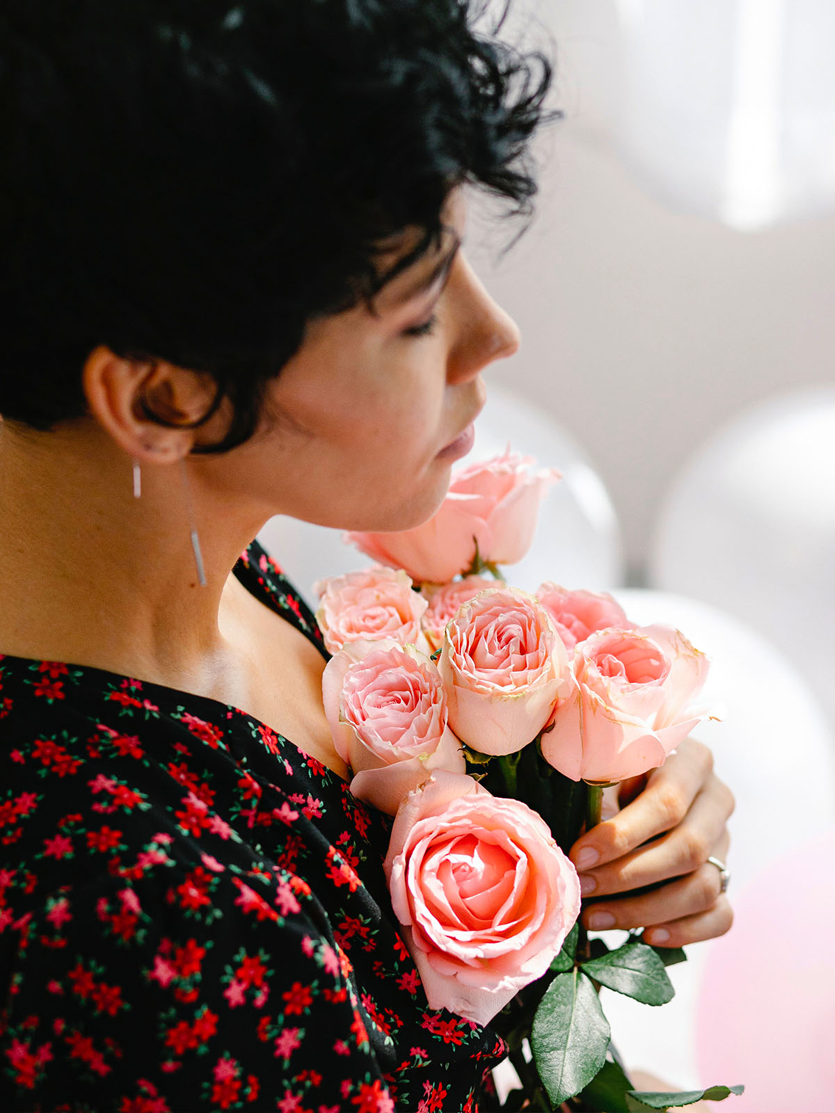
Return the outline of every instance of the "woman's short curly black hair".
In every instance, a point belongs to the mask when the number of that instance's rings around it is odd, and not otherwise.
[[[470,0],[0,0],[0,414],[86,413],[97,345],[209,373],[256,427],[310,319],[450,189],[529,213],[551,68]]]

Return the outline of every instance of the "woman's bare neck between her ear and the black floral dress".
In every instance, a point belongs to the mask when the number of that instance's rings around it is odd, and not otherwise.
[[[230,570],[264,521],[215,493],[219,466],[144,465],[137,499],[130,460],[92,423],[0,424],[0,652],[207,687],[229,656]]]

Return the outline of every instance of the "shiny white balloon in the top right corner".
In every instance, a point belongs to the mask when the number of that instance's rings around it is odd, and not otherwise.
[[[835,8],[618,0],[618,138],[674,207],[760,228],[835,207]]]

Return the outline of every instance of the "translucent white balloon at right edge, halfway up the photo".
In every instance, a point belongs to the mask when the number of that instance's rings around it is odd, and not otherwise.
[[[835,715],[835,387],[762,404],[696,453],[662,505],[649,582],[770,638]]]

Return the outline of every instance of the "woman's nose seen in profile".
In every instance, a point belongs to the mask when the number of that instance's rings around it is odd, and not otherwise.
[[[478,374],[493,359],[505,359],[519,349],[519,327],[484,289],[459,252],[448,285],[455,334],[449,356],[449,377]]]

